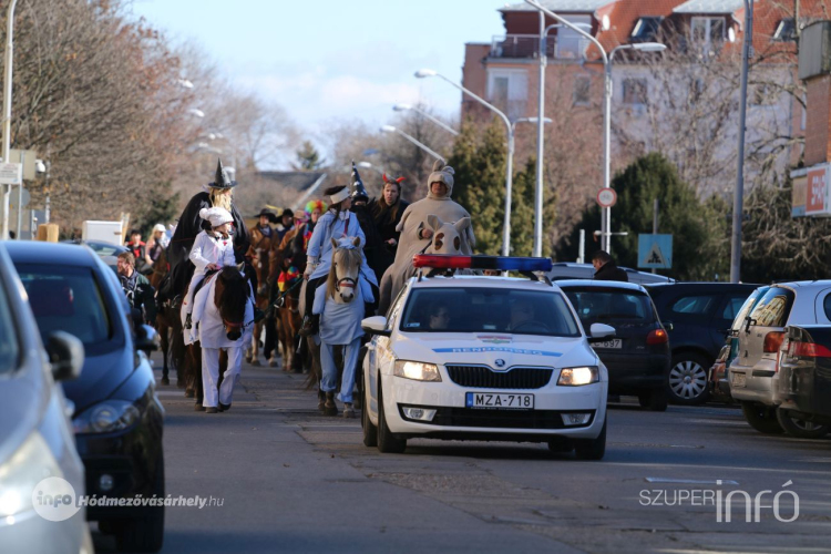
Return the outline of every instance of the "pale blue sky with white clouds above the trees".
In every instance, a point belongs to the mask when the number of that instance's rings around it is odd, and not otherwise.
[[[458,117],[465,42],[503,34],[497,0],[134,0],[174,41],[195,42],[237,86],[283,105],[320,143],[334,120],[381,125],[397,102]],[[194,83],[198,86],[198,83]],[[206,114],[209,116],[209,114]]]

